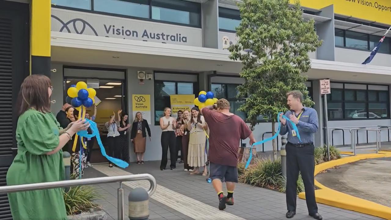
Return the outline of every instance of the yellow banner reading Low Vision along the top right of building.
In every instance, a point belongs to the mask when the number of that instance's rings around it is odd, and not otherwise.
[[[390,0],[300,0],[300,4],[313,9],[334,5],[335,14],[391,24]]]

